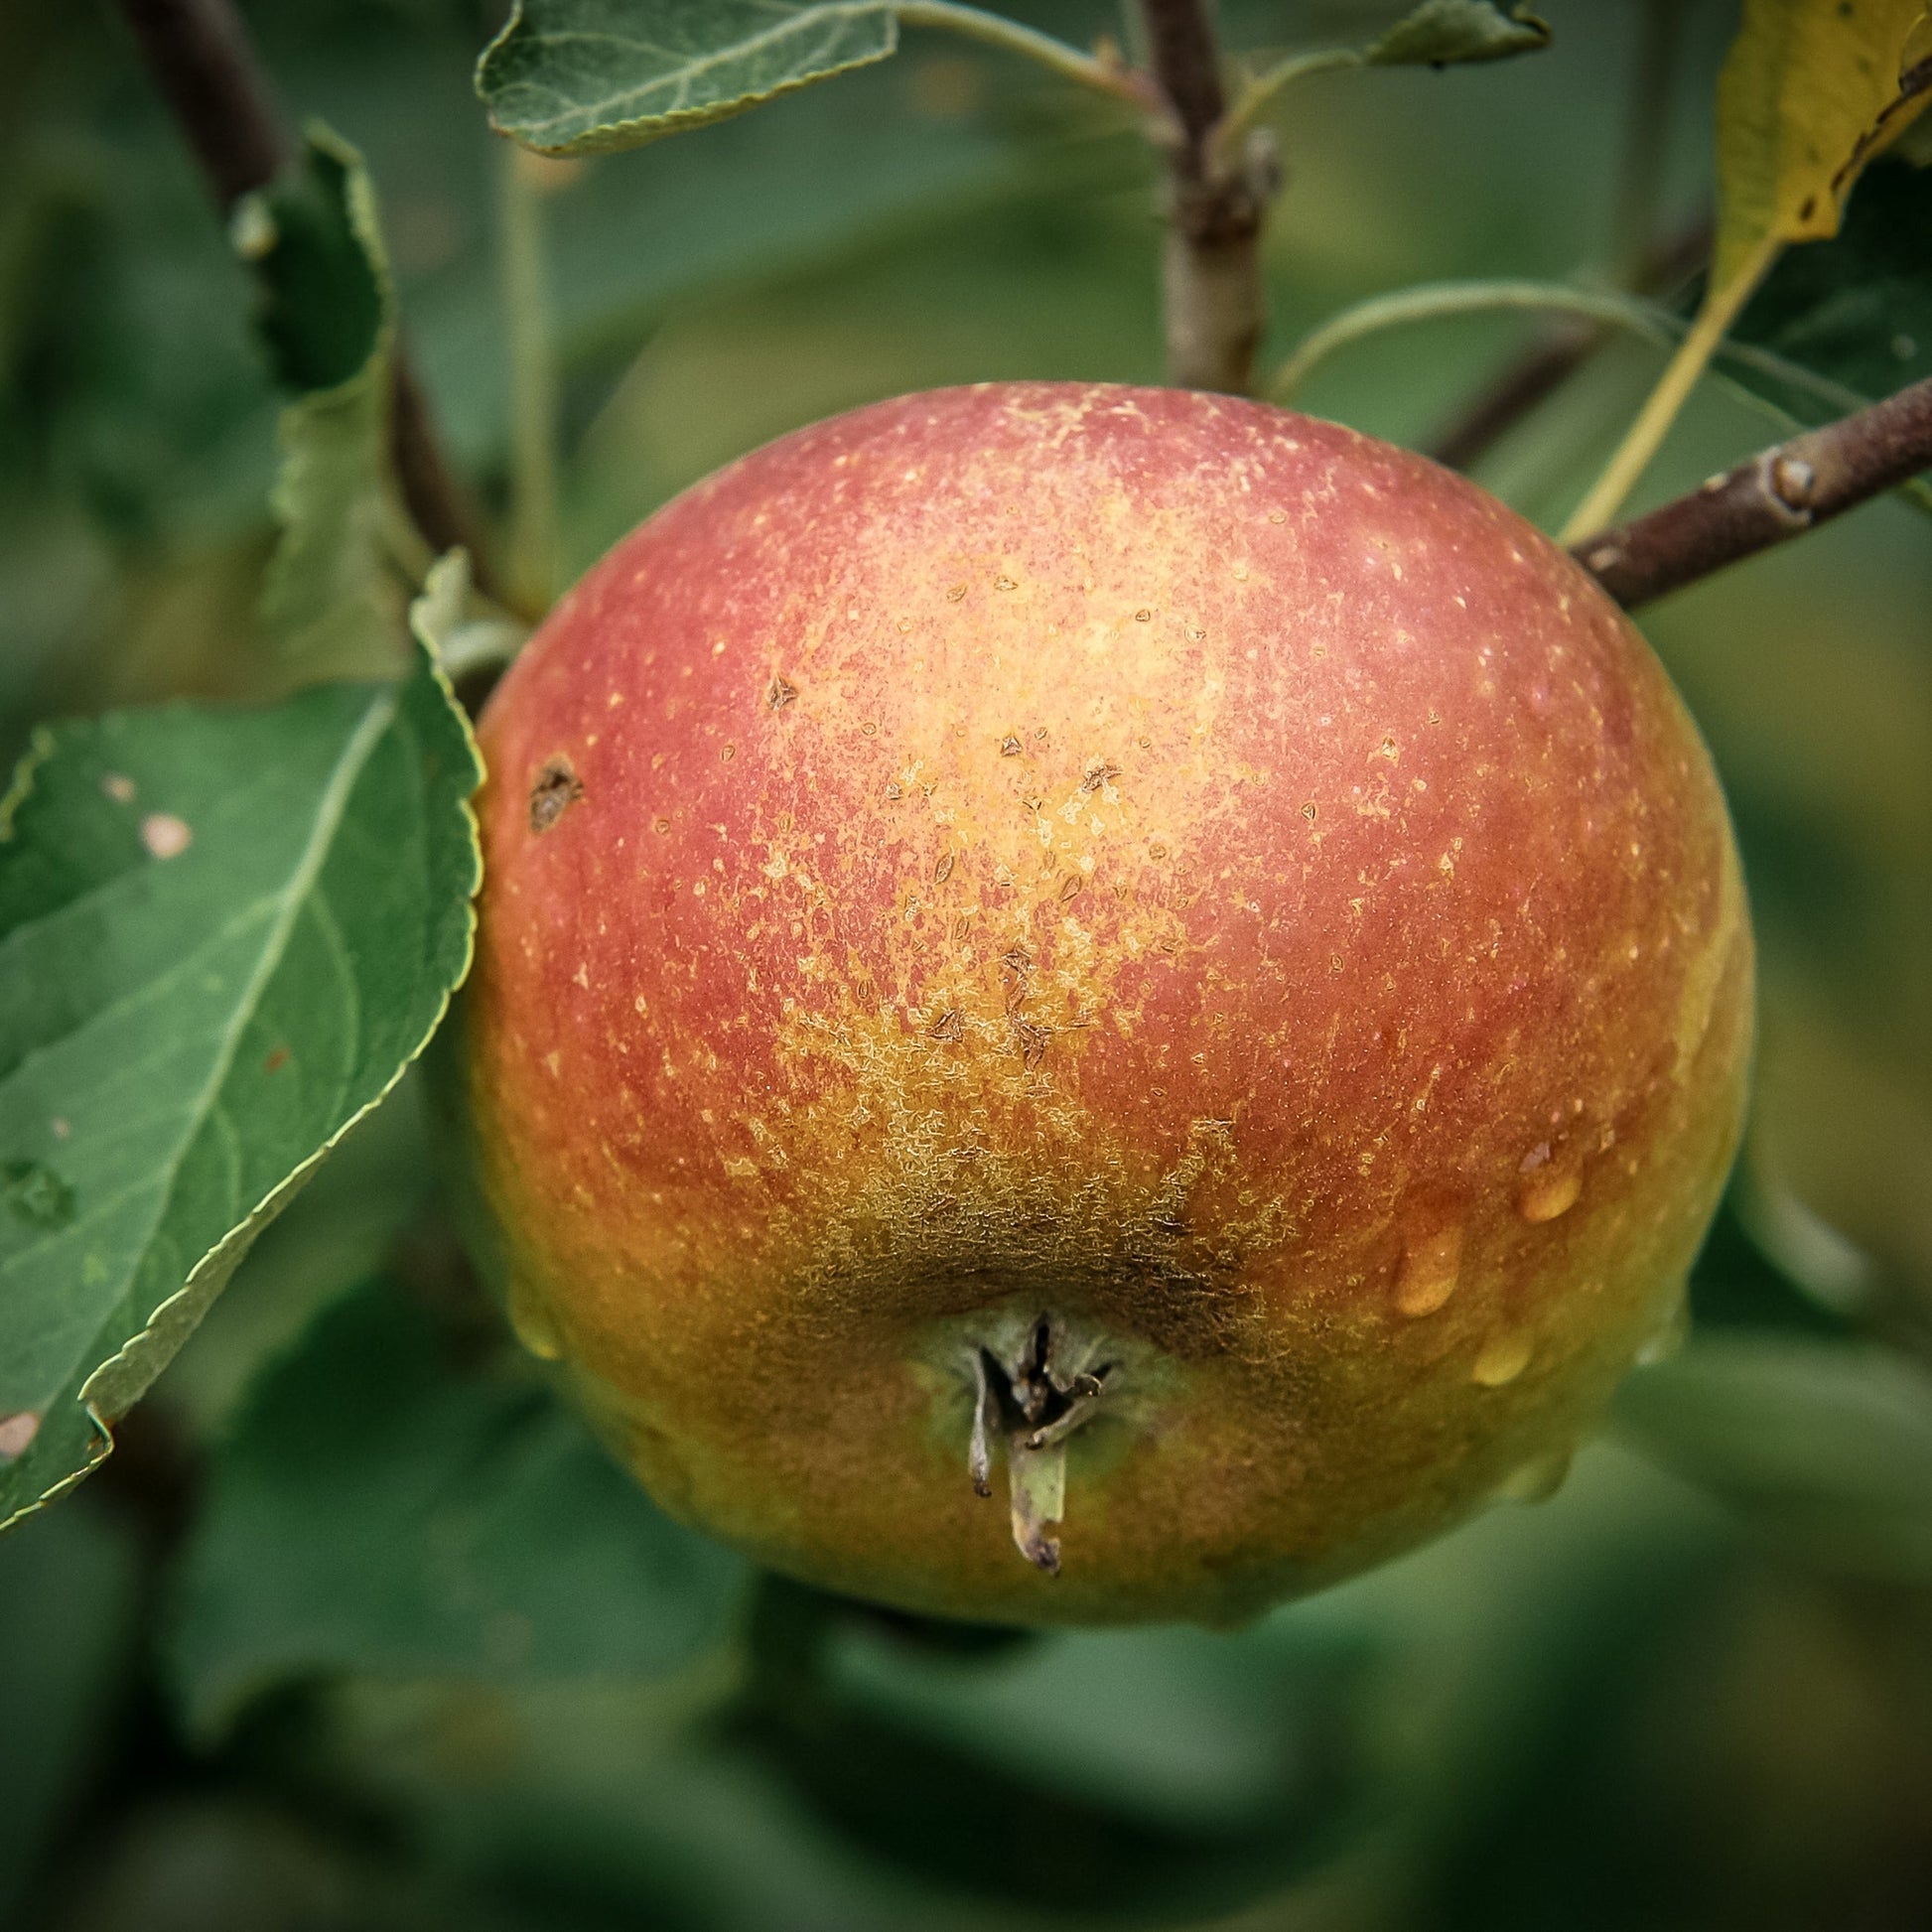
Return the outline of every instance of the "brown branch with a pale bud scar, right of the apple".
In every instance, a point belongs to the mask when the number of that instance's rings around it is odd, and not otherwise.
[[[1756,556],[1932,469],[1932,377],[1760,450],[1725,475],[1571,554],[1627,611]]]

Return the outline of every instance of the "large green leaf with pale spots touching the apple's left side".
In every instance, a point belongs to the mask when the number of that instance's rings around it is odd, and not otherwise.
[[[0,810],[0,1526],[68,1490],[469,964],[442,672],[41,730]]]

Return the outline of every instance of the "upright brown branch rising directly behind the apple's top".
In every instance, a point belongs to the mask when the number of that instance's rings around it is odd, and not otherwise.
[[[1262,213],[1273,145],[1229,158],[1227,112],[1208,0],[1140,0],[1148,64],[1173,114],[1167,151],[1167,375],[1180,388],[1246,394],[1262,340]]]

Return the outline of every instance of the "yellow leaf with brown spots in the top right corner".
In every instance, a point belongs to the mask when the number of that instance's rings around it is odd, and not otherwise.
[[[1718,261],[1837,234],[1859,172],[1932,93],[1924,0],[1745,0],[1718,79]]]

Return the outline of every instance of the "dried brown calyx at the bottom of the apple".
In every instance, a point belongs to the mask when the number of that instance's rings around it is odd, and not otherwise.
[[[1099,1335],[1053,1316],[1039,1316],[1012,1347],[972,1349],[972,1486],[993,1493],[993,1445],[1005,1443],[1012,1540],[1049,1577],[1061,1567],[1053,1532],[1066,1513],[1066,1441],[1099,1410],[1117,1366]]]

